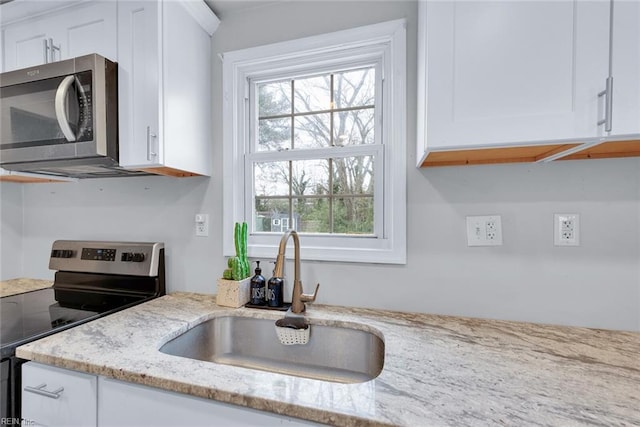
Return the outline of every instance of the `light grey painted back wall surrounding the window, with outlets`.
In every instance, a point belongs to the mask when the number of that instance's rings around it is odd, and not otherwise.
[[[213,49],[218,54],[402,17],[408,20],[407,104],[415,111],[415,3],[265,4],[222,16]],[[213,96],[220,100],[221,64],[217,56],[214,61]],[[211,178],[24,186],[24,275],[52,277],[47,256],[55,239],[161,240],[170,291],[214,292],[226,265],[221,117],[217,101]],[[415,124],[409,117],[409,165],[415,164]],[[408,203],[407,265],[304,262],[307,290],[321,283],[318,302],[640,330],[640,159],[409,166]],[[208,238],[194,236],[199,212],[211,215]],[[553,246],[554,212],[580,213],[580,247]],[[466,246],[465,216],[476,214],[502,215],[502,247]],[[304,238],[302,244],[304,250]]]

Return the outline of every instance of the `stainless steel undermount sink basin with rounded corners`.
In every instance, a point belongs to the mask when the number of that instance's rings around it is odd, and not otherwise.
[[[324,381],[359,383],[384,365],[384,341],[355,328],[311,324],[309,342],[283,345],[274,319],[224,316],[203,322],[164,344],[173,356]]]

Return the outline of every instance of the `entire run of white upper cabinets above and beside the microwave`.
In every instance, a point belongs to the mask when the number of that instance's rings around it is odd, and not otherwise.
[[[220,21],[203,1],[15,0],[2,8],[3,71],[89,53],[118,62],[122,167],[210,175],[211,36]]]

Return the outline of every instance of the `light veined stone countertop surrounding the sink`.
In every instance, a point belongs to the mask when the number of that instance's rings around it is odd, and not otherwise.
[[[332,425],[640,425],[640,333],[310,305],[385,341],[380,376],[338,384],[160,353],[218,307],[176,293],[19,347],[18,357]],[[312,326],[313,328],[313,326]]]

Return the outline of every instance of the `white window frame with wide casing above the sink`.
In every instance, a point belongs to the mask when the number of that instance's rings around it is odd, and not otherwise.
[[[235,254],[234,222],[251,224],[252,171],[249,91],[251,80],[272,74],[323,71],[334,64],[381,61],[382,145],[376,163],[384,168],[382,234],[374,237],[301,235],[306,260],[406,264],[406,21],[367,25],[319,36],[227,52],[223,56],[223,253]],[[379,115],[376,113],[376,119]],[[347,147],[345,147],[347,148]],[[357,147],[353,147],[356,151]],[[303,151],[303,150],[300,150]],[[306,150],[304,150],[306,151]],[[346,154],[346,152],[345,152]],[[256,155],[253,153],[252,155]],[[305,154],[301,154],[305,156]],[[380,162],[380,160],[382,162]],[[378,166],[376,166],[377,168]],[[378,172],[374,175],[378,179]],[[379,199],[379,198],[378,198]],[[249,213],[247,213],[249,212]],[[276,257],[280,234],[250,233],[248,255]],[[292,246],[292,245],[289,245]]]

